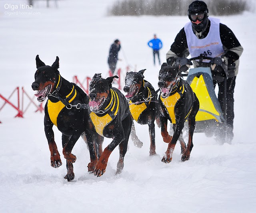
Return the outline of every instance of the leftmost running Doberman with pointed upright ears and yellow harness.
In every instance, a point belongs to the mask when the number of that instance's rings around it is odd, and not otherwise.
[[[89,98],[86,93],[60,75],[58,56],[52,66],[48,66],[37,55],[36,68],[32,89],[38,91],[35,96],[39,102],[48,97],[44,107],[44,131],[50,148],[51,166],[58,168],[62,165],[52,130],[55,125],[62,132],[62,153],[67,167],[67,174],[64,178],[71,181],[74,179],[73,163],[76,161],[76,156],[71,154],[71,151],[78,138],[83,134],[87,139],[91,160],[88,164],[90,172],[94,171],[98,160],[95,141],[102,144],[103,138],[95,132],[92,123],[89,122],[88,109],[80,107],[81,105],[88,106]]]

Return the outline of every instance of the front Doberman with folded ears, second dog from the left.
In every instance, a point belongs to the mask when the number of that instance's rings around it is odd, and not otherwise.
[[[124,156],[127,151],[128,139],[132,127],[129,105],[124,95],[112,87],[116,75],[102,78],[95,74],[90,82],[90,118],[96,132],[101,136],[113,138],[112,142],[104,149],[98,160],[94,174],[102,176],[106,171],[108,158],[114,148],[119,145],[119,161],[116,174],[120,174],[124,167]]]

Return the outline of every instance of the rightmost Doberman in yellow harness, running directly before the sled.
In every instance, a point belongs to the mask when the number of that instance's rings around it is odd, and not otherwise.
[[[190,152],[193,148],[193,134],[196,126],[196,114],[199,109],[199,101],[190,85],[179,77],[179,70],[167,63],[163,63],[159,71],[158,87],[160,88],[159,109],[161,134],[164,142],[168,143],[162,162],[170,163],[172,153],[177,140],[180,141],[182,149],[182,161],[189,160]],[[167,121],[173,124],[173,136],[167,131]],[[182,129],[184,122],[188,120],[188,144],[186,146]]]

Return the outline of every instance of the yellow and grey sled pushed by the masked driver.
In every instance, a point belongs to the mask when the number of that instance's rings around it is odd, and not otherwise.
[[[186,76],[186,74],[183,76]],[[218,81],[220,80],[219,78],[222,78],[221,81],[226,81],[225,77],[216,78],[214,75],[214,80]],[[196,93],[200,103],[200,108],[196,115],[195,132],[204,132],[206,136],[211,137],[214,133],[218,134],[217,132],[224,130],[222,128],[225,128],[226,118],[214,91],[210,67],[190,69],[186,81],[190,84],[194,93]]]

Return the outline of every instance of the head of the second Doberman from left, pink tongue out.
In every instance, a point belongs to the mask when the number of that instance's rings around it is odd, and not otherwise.
[[[101,74],[95,74],[89,86],[89,106],[93,112],[97,112],[106,103],[110,97],[110,89],[114,78],[117,75],[108,77],[106,79],[101,77]]]

